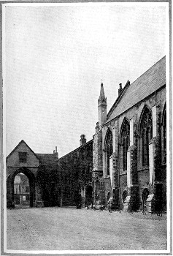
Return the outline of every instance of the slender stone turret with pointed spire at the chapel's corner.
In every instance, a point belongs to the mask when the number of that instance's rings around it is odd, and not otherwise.
[[[107,98],[104,96],[104,85],[101,83],[100,97],[98,99],[99,127],[107,120]]]

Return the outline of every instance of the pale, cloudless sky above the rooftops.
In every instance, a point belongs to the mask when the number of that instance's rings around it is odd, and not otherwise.
[[[20,140],[59,157],[91,140],[101,81],[108,112],[119,83],[166,55],[163,4],[11,4],[4,20],[7,155]]]

